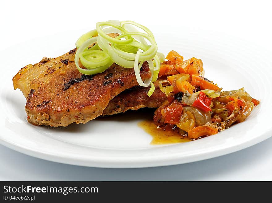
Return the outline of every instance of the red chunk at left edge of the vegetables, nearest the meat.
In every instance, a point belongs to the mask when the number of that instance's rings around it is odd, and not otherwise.
[[[172,103],[167,108],[161,110],[162,116],[165,118],[164,123],[177,124],[180,122],[182,113],[181,104]]]

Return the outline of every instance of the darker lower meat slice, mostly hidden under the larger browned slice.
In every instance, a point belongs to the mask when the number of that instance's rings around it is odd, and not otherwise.
[[[150,87],[134,86],[121,92],[109,102],[102,115],[113,115],[129,109],[138,110],[144,107],[158,108],[167,98],[159,89],[159,81],[154,85],[155,91],[151,97],[147,95]]]

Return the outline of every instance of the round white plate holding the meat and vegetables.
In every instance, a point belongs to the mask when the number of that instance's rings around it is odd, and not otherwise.
[[[139,113],[99,118],[66,128],[33,126],[26,120],[23,94],[13,90],[12,77],[23,66],[43,56],[56,57],[74,48],[84,31],[36,38],[2,51],[0,142],[19,152],[74,165],[131,168],[199,161],[249,147],[272,135],[272,75],[270,54],[262,47],[220,33],[189,30],[171,33],[167,41],[161,29],[155,33],[159,51],[176,50],[185,59],[203,60],[206,77],[224,90],[245,87],[261,105],[246,121],[217,135],[188,143],[150,145],[151,136],[137,126]],[[172,29],[174,30],[174,29]],[[85,30],[86,31],[86,30]],[[39,47],[37,46],[39,45]]]

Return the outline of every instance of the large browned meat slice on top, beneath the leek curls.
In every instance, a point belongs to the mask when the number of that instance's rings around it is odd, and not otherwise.
[[[27,98],[29,122],[54,127],[86,123],[100,116],[114,96],[138,84],[133,68],[117,64],[94,76],[79,73],[75,51],[27,65],[13,77],[14,88]],[[141,77],[145,80],[150,75],[144,63]]]

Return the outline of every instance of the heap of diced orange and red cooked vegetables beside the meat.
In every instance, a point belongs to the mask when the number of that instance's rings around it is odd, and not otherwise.
[[[165,80],[159,82],[159,87],[167,100],[155,111],[154,122],[158,126],[198,139],[244,121],[259,104],[244,88],[221,91],[203,77],[200,59],[183,61],[176,51],[170,51],[166,59],[159,72]]]

